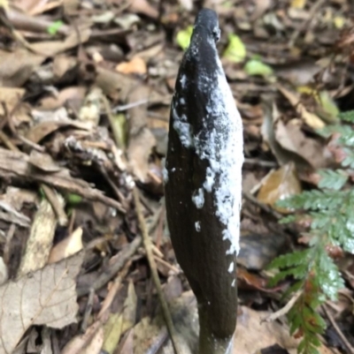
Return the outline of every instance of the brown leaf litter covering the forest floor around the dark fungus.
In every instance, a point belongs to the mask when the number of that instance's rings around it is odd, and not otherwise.
[[[302,231],[278,225],[274,203],[318,185],[316,169],[346,154],[318,129],[354,109],[350,1],[204,3],[219,13],[219,54],[244,126],[235,350],[294,352],[286,320],[259,323],[280,307],[282,285],[266,287],[266,265]],[[197,6],[0,2],[0,353],[173,352],[136,185],[181,352],[196,350],[196,302],[162,197],[169,105]],[[350,311],[340,300],[333,313],[340,305]]]

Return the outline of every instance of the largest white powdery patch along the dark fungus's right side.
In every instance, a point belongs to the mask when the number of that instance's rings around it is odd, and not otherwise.
[[[195,137],[196,154],[207,159],[204,189],[214,192],[214,205],[219,221],[225,225],[222,239],[230,242],[227,254],[238,253],[240,249],[240,210],[242,189],[243,138],[242,118],[218,57],[218,76],[212,90],[210,103],[205,108],[215,119],[212,132],[207,139]],[[202,78],[201,85],[210,79]],[[206,129],[206,127],[204,127]],[[217,181],[218,180],[218,181]],[[217,185],[215,185],[215,183]]]

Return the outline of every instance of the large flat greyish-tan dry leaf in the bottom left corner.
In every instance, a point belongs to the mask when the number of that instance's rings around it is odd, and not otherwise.
[[[0,287],[0,353],[10,354],[27,329],[63,328],[76,322],[75,277],[83,252]]]

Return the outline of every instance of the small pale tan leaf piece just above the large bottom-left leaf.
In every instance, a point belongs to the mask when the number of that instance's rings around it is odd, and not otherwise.
[[[48,263],[55,263],[71,257],[73,254],[82,250],[82,229],[73,230],[72,234],[63,241],[55,245],[50,251]]]

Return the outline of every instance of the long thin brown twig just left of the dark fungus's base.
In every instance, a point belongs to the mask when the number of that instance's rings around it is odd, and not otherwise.
[[[167,303],[165,301],[165,296],[162,291],[161,282],[158,278],[158,269],[156,267],[154,256],[152,254],[151,241],[150,241],[150,237],[148,235],[148,230],[146,228],[145,219],[142,215],[142,205],[141,205],[141,202],[139,199],[139,193],[138,193],[138,190],[136,189],[136,187],[133,189],[133,196],[134,196],[134,201],[135,201],[136,214],[138,215],[139,227],[140,227],[140,230],[142,231],[142,241],[145,246],[146,255],[148,257],[152,279],[155,283],[156,289],[158,290],[158,299],[159,299],[161,307],[162,307],[162,312],[164,313],[166,327],[168,329],[168,332],[170,334],[170,337],[171,337],[171,340],[173,343],[174,353],[179,354],[179,353],[181,353],[181,350],[179,350],[180,348],[179,348],[179,345],[177,342],[177,335],[176,335],[176,332],[175,332],[175,329],[173,326],[173,320],[171,317],[171,313],[170,313]]]

